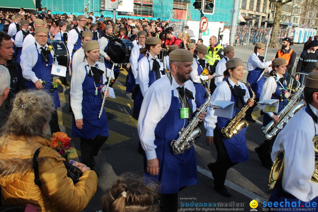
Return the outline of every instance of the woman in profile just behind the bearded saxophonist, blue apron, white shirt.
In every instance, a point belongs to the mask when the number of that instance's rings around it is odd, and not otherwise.
[[[190,73],[190,79],[192,80],[194,87],[196,88],[196,105],[200,107],[203,105],[205,100],[207,99],[206,91],[204,86],[201,83],[202,81],[213,79],[214,76],[211,74],[207,74],[205,76],[202,75],[203,69],[198,62],[198,59],[203,59],[205,54],[208,52],[208,47],[203,44],[197,44],[196,49],[193,54],[193,64],[192,64],[192,72]]]

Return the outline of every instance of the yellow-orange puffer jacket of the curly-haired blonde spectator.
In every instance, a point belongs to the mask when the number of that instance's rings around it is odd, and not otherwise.
[[[42,189],[34,184],[32,158],[38,155]],[[97,175],[85,171],[74,185],[66,176],[65,159],[42,137],[0,138],[0,186],[3,205],[26,205],[38,211],[81,211],[97,188]]]

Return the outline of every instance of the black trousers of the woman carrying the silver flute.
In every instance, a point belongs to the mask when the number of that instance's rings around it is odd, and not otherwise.
[[[105,143],[108,137],[97,135],[94,139],[80,139],[80,151],[82,154],[82,163],[93,170],[94,158],[97,156],[100,147]]]

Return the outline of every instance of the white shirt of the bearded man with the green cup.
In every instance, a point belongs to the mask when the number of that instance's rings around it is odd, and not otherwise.
[[[193,96],[196,95],[195,87],[191,80],[186,81],[184,86],[193,93]],[[179,92],[176,89],[177,87],[180,86],[176,83],[173,76],[172,84],[170,84],[167,75],[164,75],[150,85],[144,95],[138,118],[138,135],[142,147],[145,150],[147,160],[157,157],[155,150],[157,146],[154,144],[155,129],[159,121],[169,110],[171,104],[171,91],[173,90],[175,97],[179,96]],[[196,111],[195,99],[189,100],[192,101],[192,110]],[[178,113],[178,110],[176,113]]]

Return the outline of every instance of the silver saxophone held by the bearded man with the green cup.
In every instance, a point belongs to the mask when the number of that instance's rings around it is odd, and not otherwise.
[[[168,77],[171,77],[169,74],[167,74]],[[202,80],[201,80],[202,83]],[[203,83],[202,83],[203,84]],[[197,127],[199,123],[199,117],[202,113],[204,113],[207,108],[209,107],[209,103],[211,100],[211,94],[208,91],[206,87],[205,92],[208,94],[208,99],[204,102],[203,105],[200,106],[199,111],[196,113],[196,115],[193,117],[193,119],[189,122],[187,127],[183,127],[179,131],[179,137],[176,140],[171,141],[171,147],[174,154],[182,154],[184,150],[190,149],[190,147],[193,145],[195,138],[201,135],[201,130],[199,127]]]

